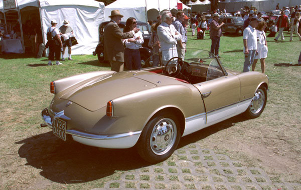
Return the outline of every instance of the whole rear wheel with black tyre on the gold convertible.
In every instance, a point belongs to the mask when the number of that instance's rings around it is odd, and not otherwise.
[[[145,125],[137,142],[139,155],[148,162],[158,163],[170,157],[181,137],[180,124],[176,116],[161,113]]]

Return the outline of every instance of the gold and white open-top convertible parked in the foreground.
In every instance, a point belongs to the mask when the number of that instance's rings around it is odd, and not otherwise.
[[[149,57],[140,70],[94,71],[52,81],[54,97],[43,119],[62,140],[136,146],[143,159],[156,163],[174,152],[181,136],[240,113],[248,118],[262,113],[267,75],[225,69],[202,49],[188,49],[184,60],[163,60],[164,53]]]

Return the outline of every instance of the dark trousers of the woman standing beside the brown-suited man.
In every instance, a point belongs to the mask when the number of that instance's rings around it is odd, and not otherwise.
[[[124,61],[125,61],[127,70],[132,70],[133,67],[136,70],[140,69],[141,68],[141,57],[140,57],[139,49],[125,48]]]

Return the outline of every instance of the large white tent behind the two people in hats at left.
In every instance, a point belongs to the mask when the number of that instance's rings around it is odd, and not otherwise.
[[[3,0],[0,0],[3,4]],[[51,20],[56,19],[60,27],[64,19],[70,21],[77,45],[72,47],[72,54],[92,54],[98,44],[98,25],[104,21],[104,3],[95,0],[18,0],[22,10],[32,7],[38,9],[41,16],[44,43],[46,31]],[[25,23],[22,20],[23,24]],[[68,52],[65,52],[68,53]]]

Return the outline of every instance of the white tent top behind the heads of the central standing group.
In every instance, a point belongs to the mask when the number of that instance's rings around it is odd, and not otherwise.
[[[178,2],[181,2],[178,0]],[[146,4],[145,4],[146,3]],[[190,9],[182,3],[183,10]],[[128,17],[135,17],[138,21],[156,20],[159,11],[177,9],[177,0],[116,0],[105,6],[105,20],[108,21],[111,11],[118,9],[124,17],[122,21],[126,21]]]

